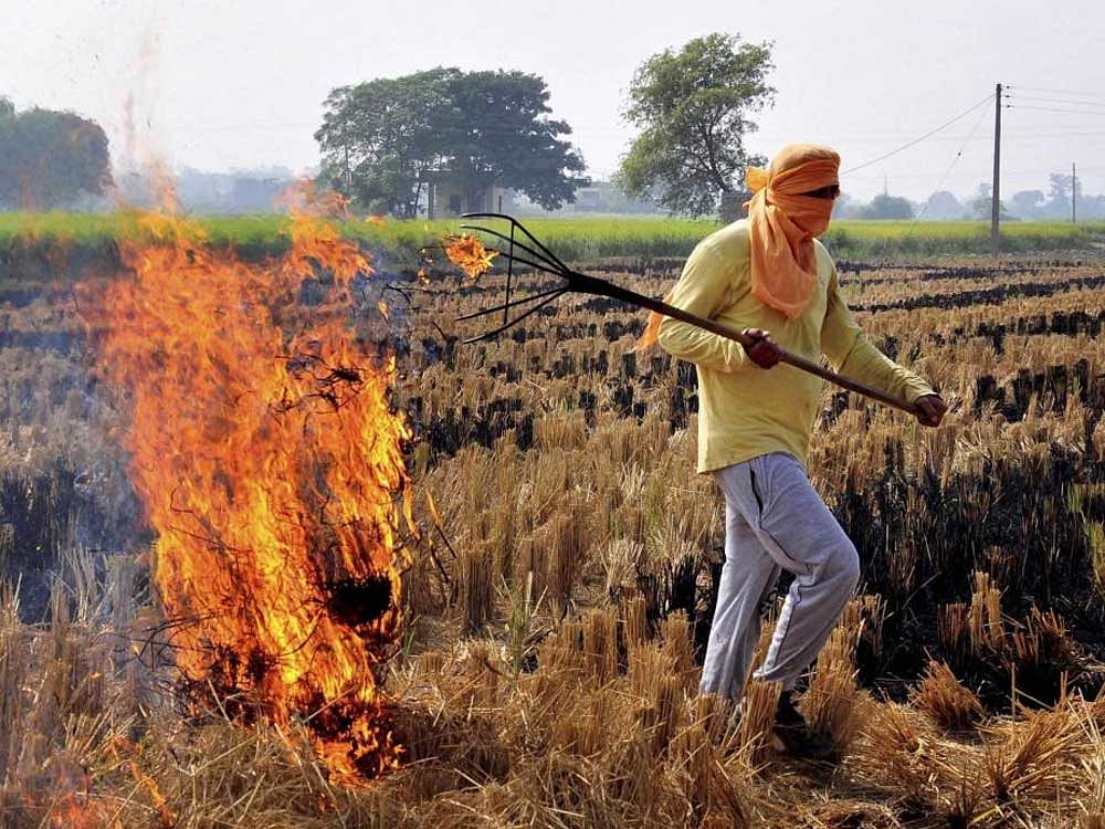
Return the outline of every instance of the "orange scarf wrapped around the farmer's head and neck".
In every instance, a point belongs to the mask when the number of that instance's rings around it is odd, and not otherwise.
[[[833,206],[802,193],[839,185],[839,170],[840,156],[813,144],[788,144],[766,170],[748,169],[753,294],[791,319],[818,285],[813,237],[829,228]]]

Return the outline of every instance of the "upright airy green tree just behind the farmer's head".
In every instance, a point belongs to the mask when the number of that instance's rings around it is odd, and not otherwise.
[[[757,128],[749,116],[775,101],[772,69],[770,43],[720,33],[645,61],[623,113],[641,130],[622,158],[625,191],[688,216],[713,212],[719,198],[737,200],[747,168],[765,162],[748,154],[745,136]]]

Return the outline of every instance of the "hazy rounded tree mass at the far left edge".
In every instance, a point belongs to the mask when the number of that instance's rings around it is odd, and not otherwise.
[[[110,183],[107,136],[93,120],[52,109],[15,112],[0,98],[0,203],[40,210]]]

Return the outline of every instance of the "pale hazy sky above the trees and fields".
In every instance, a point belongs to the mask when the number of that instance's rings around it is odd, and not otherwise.
[[[723,31],[775,42],[778,99],[755,150],[820,141],[846,170],[992,96],[1000,81],[1020,102],[1002,112],[1002,195],[1046,190],[1048,174],[1071,161],[1087,192],[1105,192],[1101,0],[0,0],[0,94],[95,118],[116,159],[129,134],[133,154],[175,166],[301,170],[317,162],[312,135],[329,90],[454,65],[543,75],[554,114],[604,176],[632,137],[620,112],[634,69]],[[992,135],[991,102],[844,176],[844,190],[866,199],[885,177],[911,198],[941,185],[971,193],[990,179]]]

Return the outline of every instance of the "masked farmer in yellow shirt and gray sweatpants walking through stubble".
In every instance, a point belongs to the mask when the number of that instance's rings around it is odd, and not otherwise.
[[[683,269],[669,301],[744,330],[751,346],[676,319],[653,323],[660,344],[697,367],[698,472],[713,473],[725,494],[725,566],[701,690],[739,702],[761,607],[789,570],[794,580],[757,675],[782,683],[777,736],[811,757],[832,745],[810,730],[791,692],[852,596],[860,562],[806,472],[822,381],[776,366],[779,347],[824,355],[841,374],[915,402],[924,426],[939,426],[947,408],[867,340],[840,296],[815,239],[840,195],[839,166],[833,150],[794,144],[767,170],[749,169],[748,219],[703,240]]]

